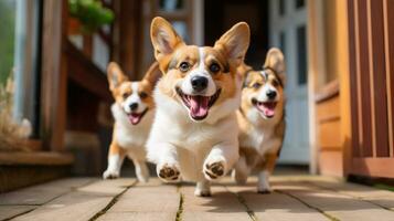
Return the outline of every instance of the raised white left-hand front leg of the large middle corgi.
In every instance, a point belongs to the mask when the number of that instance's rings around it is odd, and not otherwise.
[[[160,151],[160,159],[156,167],[158,177],[166,182],[180,180],[180,169],[178,162],[177,148],[170,144],[158,144],[157,150]]]

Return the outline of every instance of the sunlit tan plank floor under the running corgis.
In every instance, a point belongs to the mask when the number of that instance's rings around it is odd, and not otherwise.
[[[256,178],[236,186],[230,178],[213,197],[193,196],[190,183],[157,178],[68,178],[0,194],[0,220],[393,220],[394,192],[318,176],[274,176],[275,191],[255,192]]]

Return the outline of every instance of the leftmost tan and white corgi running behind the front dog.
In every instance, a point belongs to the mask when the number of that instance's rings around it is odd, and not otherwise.
[[[118,178],[127,156],[135,165],[137,179],[147,182],[149,171],[145,145],[155,116],[152,92],[161,76],[159,64],[153,63],[140,82],[128,81],[114,62],[108,65],[107,72],[109,90],[115,98],[111,106],[115,125],[108,152],[108,168],[103,178]]]

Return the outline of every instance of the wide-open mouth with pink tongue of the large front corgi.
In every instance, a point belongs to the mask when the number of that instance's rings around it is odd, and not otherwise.
[[[177,87],[178,95],[188,107],[189,114],[194,120],[201,120],[207,116],[210,107],[215,104],[222,90],[219,88],[212,96],[188,95],[183,94],[182,90]]]

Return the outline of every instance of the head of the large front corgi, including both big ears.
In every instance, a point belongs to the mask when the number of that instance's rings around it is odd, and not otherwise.
[[[151,25],[155,56],[164,76],[158,88],[182,105],[192,120],[203,120],[236,95],[236,67],[249,43],[249,29],[238,23],[212,46],[187,45],[162,18]],[[160,101],[158,101],[160,102]]]

